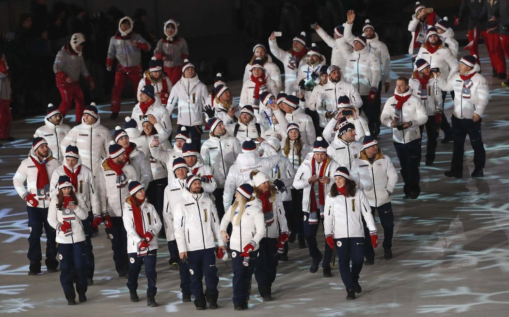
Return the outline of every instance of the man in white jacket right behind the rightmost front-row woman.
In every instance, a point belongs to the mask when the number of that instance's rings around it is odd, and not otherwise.
[[[356,158],[357,169],[352,173],[357,174],[360,186],[367,200],[370,202],[371,213],[375,216],[378,211],[380,223],[383,227],[383,250],[386,260],[392,259],[392,235],[394,231],[394,214],[390,196],[398,182],[398,173],[390,161],[390,157],[382,153],[378,147],[378,141],[373,136],[366,136],[363,140],[363,148],[360,156]],[[370,231],[364,225],[366,241],[370,240]],[[375,261],[375,250],[373,245],[366,243],[364,264],[373,264]]]

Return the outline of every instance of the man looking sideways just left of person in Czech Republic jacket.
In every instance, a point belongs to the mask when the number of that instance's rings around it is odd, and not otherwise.
[[[212,175],[217,182],[217,188],[213,192],[219,219],[224,215],[223,194],[224,182],[228,171],[235,163],[237,156],[242,151],[239,139],[226,133],[224,124],[218,118],[208,121],[210,138],[203,142],[200,151],[203,162],[212,168]]]

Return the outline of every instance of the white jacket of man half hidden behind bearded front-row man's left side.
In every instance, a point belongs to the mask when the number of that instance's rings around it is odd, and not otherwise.
[[[183,193],[186,191],[186,180],[180,178],[172,178],[168,180],[168,185],[164,188],[164,202],[162,217],[164,220],[164,232],[166,240],[175,240],[173,211],[175,206],[182,199]]]

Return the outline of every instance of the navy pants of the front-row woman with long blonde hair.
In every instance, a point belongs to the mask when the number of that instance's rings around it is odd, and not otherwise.
[[[244,257],[239,256],[240,253],[242,253],[242,251],[232,250],[233,303],[236,305],[246,303],[249,299],[251,278],[258,262],[258,250],[249,252],[248,266],[242,265]],[[235,257],[233,255],[235,255]]]

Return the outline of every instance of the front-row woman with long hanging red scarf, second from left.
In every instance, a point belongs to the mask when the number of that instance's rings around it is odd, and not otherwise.
[[[131,302],[137,302],[138,275],[145,264],[147,276],[147,306],[156,307],[156,259],[157,234],[161,221],[154,206],[145,197],[145,188],[140,182],[129,180],[129,196],[125,200],[122,220],[127,232],[127,253],[129,255],[129,277],[127,287]]]

